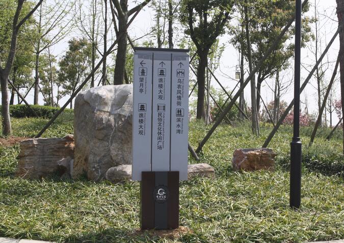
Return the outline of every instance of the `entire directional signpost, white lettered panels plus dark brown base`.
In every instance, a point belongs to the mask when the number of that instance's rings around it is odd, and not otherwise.
[[[188,50],[135,48],[133,180],[141,228],[179,226],[179,180],[188,179]]]

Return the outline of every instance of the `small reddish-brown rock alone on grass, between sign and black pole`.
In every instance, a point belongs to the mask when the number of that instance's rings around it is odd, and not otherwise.
[[[232,166],[234,171],[269,170],[275,169],[277,156],[271,148],[236,149],[233,154]]]

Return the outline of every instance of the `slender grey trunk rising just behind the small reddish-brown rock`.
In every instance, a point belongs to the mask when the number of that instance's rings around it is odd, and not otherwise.
[[[247,7],[247,0],[245,1],[245,25],[246,25],[246,41],[247,41],[247,50],[248,50],[248,61],[249,61],[249,69],[250,73],[253,70],[252,67],[252,53],[251,53],[251,40],[250,40],[250,29],[249,29],[249,22],[248,22],[248,7]],[[253,134],[259,136],[259,124],[258,124],[258,115],[257,115],[257,107],[256,107],[256,85],[255,85],[255,77],[253,76],[251,79],[251,111],[252,111],[252,132]]]

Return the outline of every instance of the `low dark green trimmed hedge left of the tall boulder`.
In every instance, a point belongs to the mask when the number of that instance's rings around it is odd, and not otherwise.
[[[41,105],[30,105],[30,109],[27,105],[10,105],[10,115],[11,117],[24,118],[24,117],[36,117],[36,114],[42,118],[51,118],[60,109],[59,107],[52,106],[41,106]],[[65,113],[73,113],[72,109],[65,109]]]

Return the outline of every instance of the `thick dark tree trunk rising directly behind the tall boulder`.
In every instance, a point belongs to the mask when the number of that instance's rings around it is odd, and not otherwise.
[[[123,84],[124,70],[126,61],[126,44],[127,44],[127,32],[126,25],[128,23],[128,6],[126,0],[120,2],[123,13],[118,14],[118,32],[122,34],[118,40],[118,49],[116,54],[114,84]]]

